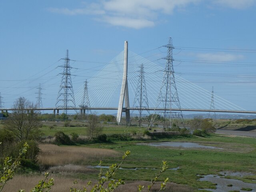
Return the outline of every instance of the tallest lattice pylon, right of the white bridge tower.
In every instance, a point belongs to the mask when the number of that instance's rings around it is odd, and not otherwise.
[[[174,46],[172,45],[172,38],[169,38],[168,44],[164,45],[164,47],[166,47],[168,51],[167,56],[163,58],[166,60],[166,67],[164,69],[164,79],[158,97],[158,102],[163,104],[164,112],[159,112],[159,114],[163,118],[164,128],[166,126],[165,121],[168,118],[170,119],[170,128],[172,128],[174,118],[179,119],[184,126],[184,119],[174,78],[174,59],[172,57],[172,50],[174,49]],[[179,109],[179,112],[173,112],[172,108]]]

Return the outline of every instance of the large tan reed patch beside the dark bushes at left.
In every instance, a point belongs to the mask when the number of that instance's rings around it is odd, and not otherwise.
[[[88,165],[98,163],[106,157],[120,156],[119,152],[110,149],[98,149],[78,146],[57,146],[40,144],[42,152],[38,162],[42,166],[63,166],[67,164]]]

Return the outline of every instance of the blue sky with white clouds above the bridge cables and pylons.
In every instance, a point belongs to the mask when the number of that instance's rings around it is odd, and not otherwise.
[[[124,49],[245,110],[256,101],[256,0],[2,0],[0,93],[54,107],[69,50],[74,93]],[[178,89],[178,88],[177,88]],[[90,90],[89,90],[90,91]],[[210,104],[209,104],[210,105]]]

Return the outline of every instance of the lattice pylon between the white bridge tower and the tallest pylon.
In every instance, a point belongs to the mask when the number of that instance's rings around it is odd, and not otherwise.
[[[147,96],[147,90],[146,90],[146,83],[145,83],[145,77],[144,77],[144,65],[140,65],[140,75],[138,76],[138,86],[136,88],[135,98],[134,98],[134,104],[133,108],[138,109],[140,116],[139,116],[139,124],[141,126],[142,122],[142,111],[146,110],[147,114],[149,115],[148,110],[148,96]]]

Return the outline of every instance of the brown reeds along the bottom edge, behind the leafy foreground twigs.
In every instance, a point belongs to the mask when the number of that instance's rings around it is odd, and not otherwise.
[[[63,176],[50,175],[49,178],[54,178],[54,186],[52,186],[52,192],[68,192],[70,191],[70,187],[73,185],[73,178],[65,178]],[[24,189],[25,191],[30,191],[39,180],[42,180],[44,176],[24,176],[17,175],[14,176],[11,182],[8,182],[6,186],[4,186],[4,192],[12,192],[18,191],[19,189]],[[78,184],[75,185],[76,188],[81,189],[83,186],[86,186],[89,180],[77,180]],[[157,192],[160,189],[160,183],[156,182],[156,184],[152,187],[151,192]],[[96,184],[96,181],[92,181],[92,186]],[[129,181],[126,184],[118,187],[114,192],[135,192],[138,191],[138,185],[144,185],[143,192],[148,190],[147,186],[150,182],[146,181]],[[88,191],[91,190],[91,186],[88,187]],[[167,183],[166,190],[168,192],[192,192],[192,188],[186,185]]]

